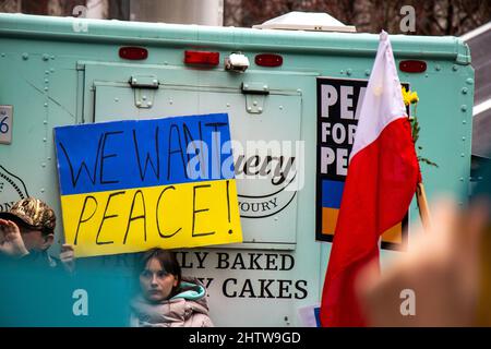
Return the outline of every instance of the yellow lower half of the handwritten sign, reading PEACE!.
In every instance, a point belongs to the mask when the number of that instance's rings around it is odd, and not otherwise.
[[[242,242],[235,180],[61,196],[75,256]]]

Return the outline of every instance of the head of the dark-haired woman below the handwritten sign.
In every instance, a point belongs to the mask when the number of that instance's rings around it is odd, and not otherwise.
[[[145,252],[140,264],[140,289],[152,303],[173,297],[181,282],[181,267],[171,251],[152,249]]]

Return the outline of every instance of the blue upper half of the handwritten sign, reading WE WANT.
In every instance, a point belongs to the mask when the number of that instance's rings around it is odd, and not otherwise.
[[[233,179],[227,113],[55,128],[61,195]]]

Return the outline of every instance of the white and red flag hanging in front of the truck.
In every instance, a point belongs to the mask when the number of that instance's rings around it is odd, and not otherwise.
[[[403,220],[421,180],[394,55],[383,31],[348,166],[322,294],[322,326],[366,325],[356,277],[379,261],[380,236]]]

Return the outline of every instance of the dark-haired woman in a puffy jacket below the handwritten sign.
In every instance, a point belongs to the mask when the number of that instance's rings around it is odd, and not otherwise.
[[[173,252],[161,249],[145,252],[139,273],[140,293],[131,304],[132,326],[213,326],[206,289],[197,279],[181,277]]]

